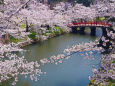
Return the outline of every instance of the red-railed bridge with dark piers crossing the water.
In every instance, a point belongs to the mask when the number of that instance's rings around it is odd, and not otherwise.
[[[107,35],[107,30],[111,28],[111,24],[108,22],[101,21],[93,21],[93,22],[72,22],[68,25],[68,27],[72,28],[73,33],[85,34],[85,27],[90,27],[90,35],[96,35],[96,27],[101,27],[102,35]]]

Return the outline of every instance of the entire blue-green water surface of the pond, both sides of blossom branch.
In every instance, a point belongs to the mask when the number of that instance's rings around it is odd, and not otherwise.
[[[95,37],[65,34],[47,41],[24,47],[28,50],[24,53],[28,61],[39,61],[63,52],[65,48],[82,42],[94,41]],[[39,81],[31,81],[29,78],[19,76],[16,86],[87,86],[88,77],[93,75],[91,67],[99,67],[100,54],[95,54],[94,60],[84,60],[80,53],[76,53],[62,64],[45,64],[41,66],[46,74],[39,76]],[[8,85],[7,85],[8,86]]]

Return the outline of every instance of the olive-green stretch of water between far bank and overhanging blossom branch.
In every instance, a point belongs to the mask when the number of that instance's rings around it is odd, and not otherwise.
[[[52,55],[62,53],[65,48],[69,48],[77,43],[89,42],[95,39],[95,37],[86,35],[65,34],[41,43],[26,46],[24,49],[28,50],[28,53],[25,53],[25,56],[29,60],[39,61],[42,58],[49,58]]]

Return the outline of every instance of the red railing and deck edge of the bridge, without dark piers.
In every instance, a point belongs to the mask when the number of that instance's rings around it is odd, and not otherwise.
[[[73,22],[72,24],[69,24],[68,27],[73,27],[73,26],[95,26],[95,27],[110,27],[111,24],[108,22]]]

